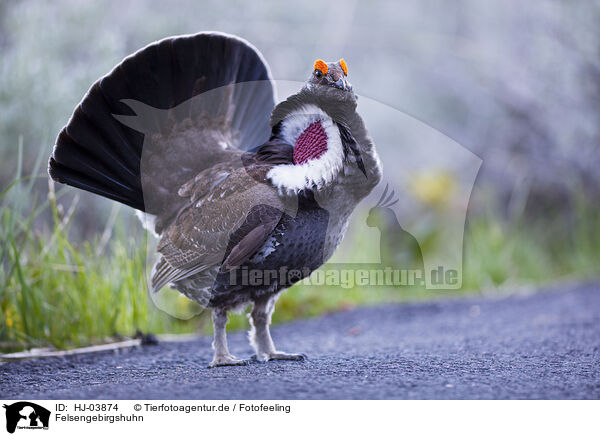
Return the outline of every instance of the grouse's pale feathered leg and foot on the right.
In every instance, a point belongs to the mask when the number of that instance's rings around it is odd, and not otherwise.
[[[254,308],[250,314],[250,344],[256,351],[256,358],[262,361],[268,360],[304,360],[306,356],[304,354],[289,354],[277,351],[273,339],[271,338],[271,332],[269,331],[269,324],[271,324],[271,315],[275,308],[275,302],[277,297],[266,297],[264,299],[256,300],[254,302]]]

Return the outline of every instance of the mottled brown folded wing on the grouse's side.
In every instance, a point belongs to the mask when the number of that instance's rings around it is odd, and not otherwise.
[[[165,229],[157,250],[153,290],[211,266],[240,265],[264,243],[289,205],[243,167],[221,165],[203,171],[180,193],[188,203]],[[287,206],[287,207],[286,207]]]

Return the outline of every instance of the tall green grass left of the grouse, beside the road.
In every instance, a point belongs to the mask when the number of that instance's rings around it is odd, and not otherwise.
[[[144,244],[128,234],[123,220],[74,245],[68,234],[76,205],[61,212],[52,188],[43,201],[31,201],[35,179],[17,174],[17,180],[0,193],[2,349],[68,348],[137,330],[192,332],[202,322],[170,317],[149,302]],[[41,232],[34,222],[48,211],[52,227]],[[178,298],[167,300],[177,304]]]

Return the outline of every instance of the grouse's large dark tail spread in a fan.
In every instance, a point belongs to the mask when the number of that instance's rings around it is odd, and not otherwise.
[[[200,94],[208,103],[194,103]],[[248,42],[215,32],[163,39],[92,85],[59,133],[48,172],[160,215],[190,177],[266,140],[274,103],[269,68]]]

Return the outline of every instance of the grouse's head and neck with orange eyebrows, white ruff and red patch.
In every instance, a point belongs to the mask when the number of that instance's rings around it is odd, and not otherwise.
[[[302,89],[277,105],[271,117],[273,138],[292,147],[291,162],[268,175],[282,192],[320,190],[342,173],[366,177],[355,139],[365,134],[351,128],[362,123],[355,122],[359,117],[348,66],[343,59],[319,59],[313,67]]]

